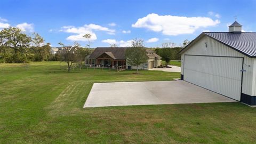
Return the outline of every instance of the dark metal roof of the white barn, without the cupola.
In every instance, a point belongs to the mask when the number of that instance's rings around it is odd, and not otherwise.
[[[204,32],[195,38],[179,53],[185,52],[191,45],[196,43],[201,37],[209,36],[216,41],[234,49],[244,55],[256,58],[256,33],[228,33],[228,32]]]

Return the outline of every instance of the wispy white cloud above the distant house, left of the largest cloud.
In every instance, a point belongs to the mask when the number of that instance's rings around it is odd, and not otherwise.
[[[87,41],[87,38],[84,38],[83,36],[85,34],[91,34],[91,41],[94,41],[97,39],[96,34],[94,31],[106,31],[110,35],[115,34],[114,29],[109,29],[107,27],[102,27],[99,25],[95,24],[90,24],[90,25],[84,25],[82,27],[74,27],[74,26],[63,26],[59,31],[63,31],[65,33],[71,33],[71,34],[76,34],[76,35],[71,35],[67,38],[69,41]]]

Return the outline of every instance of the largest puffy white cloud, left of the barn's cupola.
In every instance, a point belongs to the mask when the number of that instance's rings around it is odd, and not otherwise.
[[[193,34],[199,28],[216,26],[219,20],[212,20],[206,17],[178,17],[172,15],[148,14],[138,19],[132,27],[146,28],[155,32],[162,32],[164,35]]]

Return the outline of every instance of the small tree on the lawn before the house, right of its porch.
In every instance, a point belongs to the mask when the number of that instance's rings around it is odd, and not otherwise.
[[[148,60],[146,48],[143,45],[142,39],[136,38],[132,41],[132,46],[125,50],[125,58],[127,63],[137,67],[138,74],[138,66]]]

